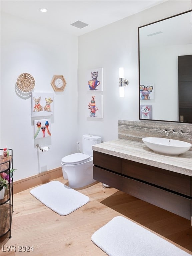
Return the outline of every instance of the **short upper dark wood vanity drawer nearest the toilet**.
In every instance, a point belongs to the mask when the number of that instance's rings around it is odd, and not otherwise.
[[[121,158],[93,151],[93,164],[99,167],[121,173]]]

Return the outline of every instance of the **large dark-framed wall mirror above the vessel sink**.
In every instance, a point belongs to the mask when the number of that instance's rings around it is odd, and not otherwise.
[[[138,28],[139,119],[192,123],[192,10]]]

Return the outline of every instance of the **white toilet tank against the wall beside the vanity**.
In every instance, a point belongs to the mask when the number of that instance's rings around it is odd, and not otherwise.
[[[82,138],[83,154],[93,156],[92,146],[101,143],[101,137],[85,134]]]

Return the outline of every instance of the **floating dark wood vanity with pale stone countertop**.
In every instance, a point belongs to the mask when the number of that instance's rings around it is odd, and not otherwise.
[[[92,149],[95,180],[192,221],[192,151],[161,155],[125,139]]]

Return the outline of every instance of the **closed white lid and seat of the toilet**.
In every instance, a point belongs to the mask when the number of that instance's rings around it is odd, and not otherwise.
[[[61,162],[65,165],[82,164],[89,161],[91,158],[82,153],[75,153],[62,158]]]

